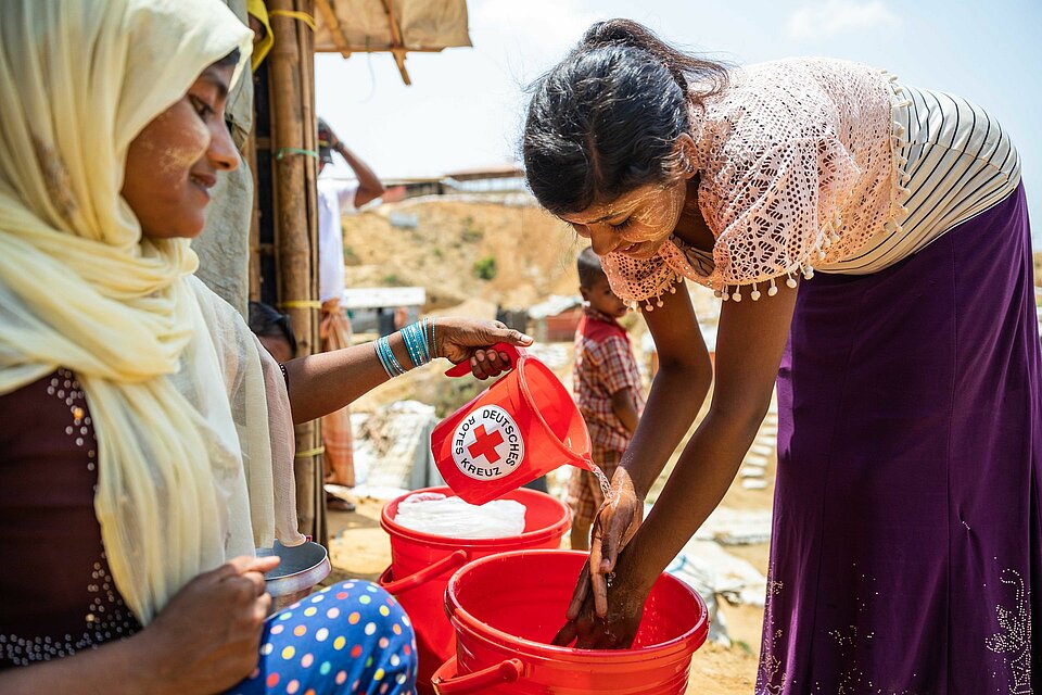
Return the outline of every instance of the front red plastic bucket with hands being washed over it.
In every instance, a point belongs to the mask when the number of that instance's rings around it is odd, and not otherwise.
[[[670,574],[656,582],[634,646],[573,649],[550,641],[585,553],[523,551],[468,564],[448,582],[445,609],[456,656],[434,675],[440,695],[682,695],[709,616],[695,590]]]

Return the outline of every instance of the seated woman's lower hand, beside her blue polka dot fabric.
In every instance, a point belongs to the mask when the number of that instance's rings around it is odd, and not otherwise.
[[[141,632],[158,693],[216,693],[257,665],[264,619],[271,606],[264,574],[278,557],[237,557],[179,591]]]

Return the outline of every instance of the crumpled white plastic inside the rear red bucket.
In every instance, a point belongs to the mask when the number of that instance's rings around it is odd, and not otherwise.
[[[473,505],[441,493],[409,495],[398,503],[394,520],[414,531],[453,539],[497,539],[524,532],[524,505],[495,500]]]

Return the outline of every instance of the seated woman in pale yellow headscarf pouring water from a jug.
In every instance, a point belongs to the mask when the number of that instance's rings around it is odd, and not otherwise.
[[[188,239],[239,163],[223,111],[250,38],[216,0],[0,13],[3,693],[411,692],[408,619],[376,586],[263,622],[275,560],[254,547],[303,541],[291,416],[342,407],[420,339],[280,372],[192,276]],[[479,375],[504,365],[474,348],[528,340],[427,328],[428,358]]]

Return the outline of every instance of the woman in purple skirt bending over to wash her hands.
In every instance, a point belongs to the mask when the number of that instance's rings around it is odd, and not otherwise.
[[[1042,361],[1000,123],[885,71],[728,70],[617,20],[535,86],[524,157],[539,202],[641,305],[661,363],[558,642],[630,643],[777,380],[757,692],[1032,692]],[[684,280],[724,301],[715,375]]]

